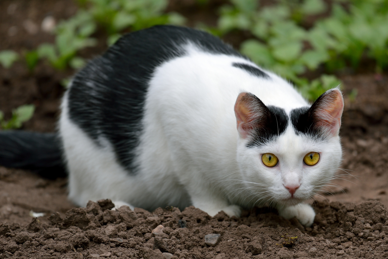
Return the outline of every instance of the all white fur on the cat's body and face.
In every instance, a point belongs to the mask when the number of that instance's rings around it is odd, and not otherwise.
[[[310,205],[295,205],[312,198],[317,186],[333,176],[341,158],[339,137],[316,143],[288,127],[275,143],[247,148],[233,110],[240,92],[251,92],[286,113],[308,103],[273,73],[266,71],[271,76],[267,80],[231,66],[233,62],[256,66],[245,59],[205,53],[192,44],[185,49],[186,56],[163,63],[149,82],[135,175],[116,162],[108,141],[99,139],[103,147],[97,146],[71,122],[65,95],[60,134],[69,169],[69,198],[81,206],[88,200],[111,198],[149,210],[194,205],[211,216],[220,210],[239,216],[241,207],[269,204],[286,218],[296,216],[302,224],[312,224]],[[303,164],[310,151],[321,154],[312,167]],[[263,165],[263,153],[274,153],[279,165]],[[301,186],[290,199],[284,184],[293,183]]]

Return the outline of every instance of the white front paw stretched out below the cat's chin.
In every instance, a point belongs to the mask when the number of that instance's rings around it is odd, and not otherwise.
[[[315,211],[310,204],[299,203],[295,206],[289,207],[282,207],[279,205],[277,209],[279,210],[280,216],[285,219],[296,217],[305,227],[311,226],[314,222]]]

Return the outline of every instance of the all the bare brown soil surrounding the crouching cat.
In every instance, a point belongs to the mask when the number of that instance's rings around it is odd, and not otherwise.
[[[215,1],[206,12],[196,7],[189,23],[213,25],[216,20],[211,16],[222,2]],[[14,3],[12,13],[9,6]],[[186,0],[180,7],[169,8],[188,15],[193,4],[194,0]],[[6,36],[0,37],[0,50],[23,52],[53,42],[49,33],[39,30],[29,34],[24,22],[29,19],[40,25],[48,14],[58,21],[75,12],[76,5],[69,0],[2,0],[0,34]],[[14,36],[9,33],[12,26],[17,28]],[[233,39],[230,42],[238,45]],[[103,49],[101,45],[81,54],[90,58]],[[23,61],[10,70],[0,67],[0,110],[9,118],[17,106],[34,103],[36,113],[24,129],[55,130],[64,91],[59,82],[72,73],[55,71],[43,61],[32,73]],[[388,76],[344,75],[341,79],[345,94],[358,90],[355,100],[345,98],[341,137],[342,169],[346,172],[339,170],[338,174],[345,175],[331,184],[340,187],[328,186],[328,193],[316,197],[317,216],[312,228],[303,228],[295,219],[281,219],[268,209],[245,211],[240,218],[223,213],[212,218],[193,207],[183,212],[177,208],[159,208],[152,213],[122,208],[117,212],[109,210],[107,201],[99,203],[102,208],[89,203],[86,209],[74,209],[66,198],[66,179],[47,180],[31,172],[0,167],[0,258],[171,257],[162,257],[161,252],[196,259],[388,257]],[[31,210],[46,216],[37,221],[30,216]],[[164,228],[151,234],[158,224]],[[213,233],[220,234],[215,247],[204,239]],[[291,239],[295,236],[298,238]]]

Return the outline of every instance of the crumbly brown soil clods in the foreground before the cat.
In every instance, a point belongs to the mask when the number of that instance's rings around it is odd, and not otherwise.
[[[319,202],[314,206],[317,217],[313,226],[300,229],[294,220],[282,219],[265,208],[230,218],[223,212],[210,217],[194,207],[183,212],[177,208],[159,208],[152,213],[135,209],[136,213],[126,206],[102,210],[99,203],[90,202],[87,208],[69,210],[63,224],[40,223],[42,229],[30,229],[31,233],[23,226],[1,225],[5,234],[0,236],[0,253],[4,258],[24,258],[34,253],[36,258],[47,259],[60,255],[115,259],[330,259],[380,258],[387,254],[388,221],[384,220],[387,209],[383,204],[367,201],[351,207]],[[115,215],[115,221],[107,221],[103,215]],[[182,217],[186,228],[179,224]],[[33,222],[36,219],[29,226]],[[154,228],[156,222],[160,225]]]

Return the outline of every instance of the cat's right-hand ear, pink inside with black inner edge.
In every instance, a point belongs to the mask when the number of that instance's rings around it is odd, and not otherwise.
[[[341,127],[343,98],[341,91],[330,89],[324,92],[309,109],[315,127],[336,136]]]

